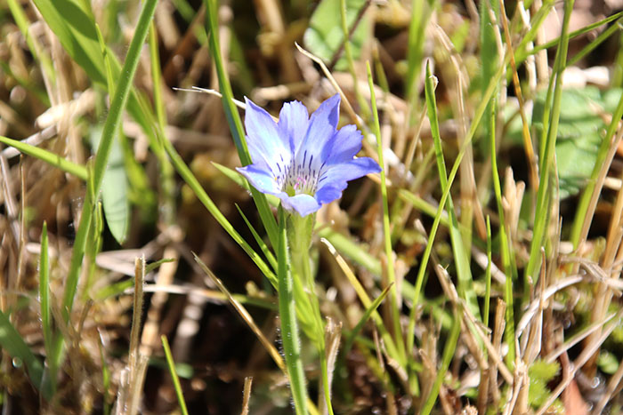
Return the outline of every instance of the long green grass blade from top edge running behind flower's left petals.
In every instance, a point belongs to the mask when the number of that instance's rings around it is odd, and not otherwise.
[[[252,160],[247,148],[245,130],[242,127],[242,121],[240,120],[238,109],[233,102],[233,92],[231,91],[230,80],[223,64],[223,57],[221,56],[221,48],[218,38],[218,0],[204,0],[204,4],[206,4],[207,10],[206,20],[210,37],[210,52],[212,52],[212,57],[214,59],[216,75],[219,80],[219,88],[223,94],[223,109],[225,111],[225,116],[227,117],[227,122],[230,124],[231,136],[233,137],[234,144],[238,149],[240,162],[244,166],[251,164]],[[251,195],[253,196],[255,206],[260,214],[260,219],[262,219],[264,229],[266,229],[266,234],[271,241],[271,245],[276,246],[277,222],[272,214],[271,207],[268,205],[266,197],[255,188],[251,188]]]

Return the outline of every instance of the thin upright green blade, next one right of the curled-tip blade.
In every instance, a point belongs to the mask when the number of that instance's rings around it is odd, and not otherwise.
[[[508,353],[506,354],[506,364],[513,367],[515,355],[514,342],[514,293],[513,282],[517,280],[517,268],[514,266],[513,253],[511,251],[512,241],[510,240],[510,232],[506,228],[506,220],[504,207],[502,204],[502,186],[500,185],[498,174],[498,152],[496,151],[496,105],[495,101],[491,105],[491,116],[489,119],[489,145],[491,151],[491,179],[493,181],[493,189],[496,194],[496,202],[498,204],[499,218],[499,243],[502,252],[502,265],[506,274],[506,285],[504,291],[504,300],[506,301],[506,344],[508,345]],[[490,255],[490,241],[487,241],[487,254]],[[490,259],[490,257],[488,257]],[[491,262],[489,261],[489,264]],[[490,277],[489,277],[490,278]]]

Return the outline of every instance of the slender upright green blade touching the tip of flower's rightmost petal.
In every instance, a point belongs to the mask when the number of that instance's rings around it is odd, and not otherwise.
[[[383,202],[383,234],[384,234],[384,248],[385,258],[387,259],[387,285],[392,285],[390,290],[390,307],[392,309],[392,323],[393,323],[393,337],[398,347],[398,354],[400,356],[399,363],[404,367],[407,362],[407,355],[405,353],[404,337],[402,335],[401,327],[401,310],[398,304],[398,295],[396,292],[396,275],[393,268],[393,251],[392,251],[392,232],[390,230],[389,223],[389,202],[387,200],[387,186],[385,185],[385,165],[383,159],[383,142],[381,140],[381,127],[378,122],[378,111],[376,110],[376,96],[374,92],[374,83],[372,81],[372,71],[370,69],[370,62],[366,62],[366,69],[368,70],[368,85],[370,89],[370,102],[372,103],[372,116],[374,116],[374,128],[373,131],[376,135],[376,149],[378,152],[378,164],[381,166],[381,198]]]

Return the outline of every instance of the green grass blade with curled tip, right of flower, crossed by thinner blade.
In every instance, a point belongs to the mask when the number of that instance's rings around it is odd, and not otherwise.
[[[437,172],[441,188],[449,188],[448,176],[446,172],[446,164],[443,159],[443,149],[441,148],[441,133],[439,132],[439,120],[437,118],[437,101],[435,100],[435,86],[433,85],[433,75],[431,74],[430,63],[426,63],[425,78],[425,98],[428,113],[428,119],[431,123],[431,134],[433,135],[433,143],[435,155],[437,158]],[[455,265],[457,267],[458,293],[461,298],[465,299],[467,307],[470,308],[473,315],[480,316],[480,308],[478,307],[478,299],[476,292],[473,291],[472,270],[470,269],[470,261],[465,250],[463,235],[458,227],[457,212],[454,210],[452,196],[448,196],[446,202],[449,215],[449,234],[452,244],[452,252],[454,254]]]

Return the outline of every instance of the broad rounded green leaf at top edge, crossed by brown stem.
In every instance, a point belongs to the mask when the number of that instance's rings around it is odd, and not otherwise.
[[[366,0],[346,1],[346,22],[348,28],[357,19],[357,15],[366,4]],[[329,62],[344,42],[344,34],[340,23],[340,2],[336,0],[324,0],[320,2],[312,14],[310,26],[305,30],[303,42],[310,52],[325,62]],[[352,58],[357,60],[361,53],[361,47],[370,35],[368,20],[364,17],[359,22],[351,36]],[[346,60],[337,60],[336,69],[345,70]]]

